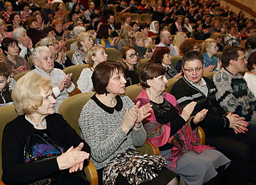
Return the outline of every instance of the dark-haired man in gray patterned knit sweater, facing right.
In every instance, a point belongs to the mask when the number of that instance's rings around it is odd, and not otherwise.
[[[256,122],[256,98],[240,74],[246,71],[245,49],[228,47],[222,54],[222,69],[213,76],[216,100],[225,111]]]

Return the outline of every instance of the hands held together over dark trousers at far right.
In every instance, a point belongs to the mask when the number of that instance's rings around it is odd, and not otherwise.
[[[229,128],[233,128],[234,132],[237,133],[245,133],[245,131],[248,131],[248,129],[246,128],[248,124],[248,122],[243,121],[245,120],[245,118],[241,118],[240,116],[238,116],[237,114],[231,114],[229,113],[226,118],[229,119]]]

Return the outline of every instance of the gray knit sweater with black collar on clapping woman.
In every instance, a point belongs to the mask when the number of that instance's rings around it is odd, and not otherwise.
[[[122,106],[121,110],[114,109],[113,114],[103,110],[92,99],[85,104],[80,114],[81,136],[91,147],[90,159],[96,169],[105,167],[118,153],[129,148],[135,149],[134,146],[142,146],[146,141],[147,135],[143,127],[133,128],[127,135],[121,129],[125,109],[132,108],[134,103],[127,96],[122,96],[119,100],[121,101],[117,101],[117,106]]]

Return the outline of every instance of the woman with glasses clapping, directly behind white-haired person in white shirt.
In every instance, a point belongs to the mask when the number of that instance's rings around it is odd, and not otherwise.
[[[47,46],[51,50],[55,68],[63,70],[66,67],[73,65],[65,52],[63,50],[59,51],[59,42],[54,36],[47,36],[42,39],[40,41],[40,46]]]

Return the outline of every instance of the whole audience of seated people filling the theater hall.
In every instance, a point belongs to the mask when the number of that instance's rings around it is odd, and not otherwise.
[[[254,19],[216,0],[103,0],[89,1],[88,9],[72,0],[67,10],[65,3],[0,3],[0,107],[14,104],[19,115],[3,131],[4,183],[79,171],[88,158],[99,184],[256,182]],[[132,13],[152,21],[132,20]],[[108,60],[107,48],[119,52],[117,61]],[[182,58],[175,65],[174,56]],[[63,69],[83,64],[89,67],[76,87]],[[212,81],[203,77],[207,72],[214,73]],[[165,92],[172,78],[179,79]],[[143,88],[134,102],[123,96],[133,84]],[[92,91],[80,113],[80,138],[57,112],[68,97]],[[198,126],[205,145],[197,143]],[[35,131],[62,151],[50,151],[56,157],[49,161],[25,163],[24,145]],[[146,139],[161,156],[136,152]]]

